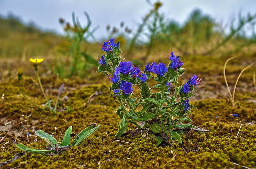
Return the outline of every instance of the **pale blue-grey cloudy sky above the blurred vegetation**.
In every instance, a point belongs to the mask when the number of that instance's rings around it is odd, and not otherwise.
[[[152,2],[156,2],[152,0]],[[195,8],[210,14],[218,22],[228,22],[243,14],[256,12],[256,0],[162,0],[161,12],[180,23],[184,23]],[[106,25],[119,26],[121,21],[133,29],[148,12],[150,6],[145,0],[0,0],[0,14],[13,13],[25,23],[33,21],[42,29],[63,33],[58,22],[59,17],[71,22],[71,12],[79,16],[82,25],[86,24],[83,11],[88,12],[92,27],[100,26],[95,32],[96,38],[106,36]]]

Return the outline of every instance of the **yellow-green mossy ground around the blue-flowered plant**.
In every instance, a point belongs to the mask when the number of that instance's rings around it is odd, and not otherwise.
[[[166,59],[166,58],[165,58]],[[165,60],[159,58],[160,60]],[[253,87],[252,73],[255,67],[244,72],[238,82],[236,92],[236,106],[227,97],[222,76],[223,64],[227,58],[219,57],[186,57],[185,77],[193,74],[201,75],[203,85],[196,88],[197,96],[192,104],[198,110],[193,110],[191,119],[193,124],[211,132],[187,132],[181,136],[183,144],[175,142],[171,147],[156,147],[153,137],[127,136],[114,141],[118,130],[119,117],[114,113],[118,106],[115,98],[108,97],[110,85],[108,78],[91,73],[87,78],[74,77],[59,79],[48,70],[46,64],[40,65],[40,74],[45,92],[55,102],[58,87],[65,83],[68,96],[64,107],[72,110],[62,110],[56,114],[41,111],[24,100],[18,90],[16,72],[18,64],[14,61],[1,62],[0,94],[0,140],[6,136],[1,147],[0,160],[10,160],[20,150],[12,144],[12,140],[21,142],[28,147],[44,149],[47,143],[36,137],[36,130],[51,133],[57,140],[62,140],[65,129],[72,126],[73,132],[78,133],[90,123],[102,125],[97,132],[86,138],[77,147],[72,147],[60,156],[46,157],[38,154],[26,153],[25,156],[13,163],[2,166],[12,168],[241,168],[239,165],[256,167],[256,93]],[[254,56],[241,60],[232,60],[227,66],[227,78],[234,84],[236,77]],[[46,60],[51,62],[51,60]],[[19,63],[20,64],[20,63]],[[40,92],[39,84],[34,77],[34,71],[29,63],[24,69],[21,86],[24,93],[36,102],[44,104],[45,100]],[[92,70],[93,72],[94,70]],[[232,88],[232,87],[231,87]],[[98,92],[97,96],[91,97]],[[88,99],[90,102],[88,102]],[[235,118],[231,114],[238,114]],[[10,122],[10,123],[8,123]],[[238,137],[236,137],[240,125]],[[57,127],[57,130],[55,130]],[[135,126],[128,126],[135,129]],[[26,136],[26,132],[30,136]],[[35,140],[37,140],[35,142]],[[6,142],[9,143],[5,144]],[[133,143],[133,144],[130,144]],[[175,157],[175,158],[174,158]]]

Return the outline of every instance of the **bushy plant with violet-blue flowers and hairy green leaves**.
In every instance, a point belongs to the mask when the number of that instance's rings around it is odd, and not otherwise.
[[[97,72],[104,73],[111,79],[109,89],[114,92],[111,96],[115,95],[120,103],[116,110],[121,119],[116,138],[124,134],[128,123],[136,125],[140,133],[153,133],[158,145],[162,141],[169,145],[170,138],[182,143],[180,134],[184,131],[206,132],[188,123],[192,120],[187,115],[191,114],[191,108],[196,109],[189,104],[188,98],[194,96],[195,87],[201,84],[201,79],[194,75],[178,86],[178,78],[185,72],[180,56],[171,52],[168,65],[147,63],[144,71],[141,71],[132,62],[121,61],[119,42],[115,43],[114,39],[110,39],[101,47],[106,54],[98,59]],[[150,87],[149,79],[154,80],[156,85]],[[138,87],[140,96],[134,96],[134,87]],[[153,93],[153,88],[158,89],[158,92]]]

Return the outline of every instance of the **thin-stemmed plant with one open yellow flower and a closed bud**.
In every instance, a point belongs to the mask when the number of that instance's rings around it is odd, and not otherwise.
[[[59,93],[58,93],[58,97],[57,97],[57,100],[56,100],[56,104],[55,104],[55,107],[51,107],[51,101],[46,97],[45,93],[44,93],[44,88],[42,86],[42,83],[41,83],[41,80],[40,80],[40,77],[38,75],[38,65],[44,61],[44,59],[32,59],[30,58],[29,60],[31,62],[31,64],[34,66],[34,70],[35,70],[35,73],[36,73],[36,76],[37,76],[37,79],[38,79],[38,82],[39,82],[39,86],[41,88],[41,91],[44,95],[44,98],[46,100],[46,103],[47,103],[47,107],[49,107],[49,109],[52,111],[52,112],[57,112],[57,108],[58,108],[58,104],[60,103],[60,94],[64,91],[64,84],[62,84],[60,87],[59,87]],[[31,104],[33,104],[35,107],[41,109],[38,105],[36,105],[34,102],[30,101],[24,94],[24,92],[22,91],[21,89],[21,86],[20,86],[20,80],[22,78],[22,75],[23,75],[23,69],[18,69],[18,85],[19,85],[19,90],[21,92],[21,94],[23,95],[23,97]]]

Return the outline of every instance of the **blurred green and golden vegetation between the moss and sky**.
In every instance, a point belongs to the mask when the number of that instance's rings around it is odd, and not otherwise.
[[[188,67],[198,73],[210,73],[210,65],[215,64],[214,60],[217,64],[224,64],[232,56],[248,58],[237,61],[241,66],[253,61],[256,55],[256,13],[238,12],[229,25],[224,25],[200,9],[195,9],[181,24],[160,12],[164,5],[162,2],[146,2],[150,9],[136,29],[132,30],[125,22],[119,26],[106,27],[106,37],[114,37],[119,41],[122,55],[133,63],[143,65],[152,61],[167,62],[166,54],[169,55],[171,51],[185,58],[186,64],[193,65],[194,61],[190,58],[196,57],[198,62],[209,65],[204,70],[197,69],[196,65]],[[87,23],[80,23],[75,13],[72,13],[72,22],[60,16],[60,27],[65,32],[60,35],[43,31],[33,23],[24,24],[18,16],[12,14],[1,16],[0,59],[2,71],[10,70],[1,75],[15,74],[18,67],[26,67],[29,58],[42,57],[47,60],[45,70],[58,77],[88,77],[97,69],[97,56],[103,54],[97,42],[102,43],[102,39],[107,38],[96,39],[93,34],[98,27],[91,27],[92,21],[86,12],[85,16],[79,16],[83,17]],[[222,65],[216,67],[220,67],[221,73]]]

